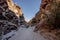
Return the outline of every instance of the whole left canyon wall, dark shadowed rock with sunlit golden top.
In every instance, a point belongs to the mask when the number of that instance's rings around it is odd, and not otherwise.
[[[24,20],[21,8],[12,0],[0,0],[0,36],[16,30],[20,21]],[[24,20],[25,21],[25,20]]]

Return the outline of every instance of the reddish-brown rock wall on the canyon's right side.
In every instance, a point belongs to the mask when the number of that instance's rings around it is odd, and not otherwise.
[[[40,10],[30,21],[35,32],[48,40],[60,40],[60,0],[42,0]]]

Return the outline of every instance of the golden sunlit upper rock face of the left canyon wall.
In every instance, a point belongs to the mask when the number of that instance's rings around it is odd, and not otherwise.
[[[9,6],[9,9],[12,10],[16,16],[19,17],[22,15],[22,10],[17,4],[13,3],[11,0],[7,0],[7,4]]]

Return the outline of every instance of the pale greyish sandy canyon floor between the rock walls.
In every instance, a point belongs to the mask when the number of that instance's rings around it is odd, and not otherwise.
[[[46,40],[39,33],[33,32],[33,30],[34,27],[18,28],[18,31],[15,32],[15,35],[7,40]]]

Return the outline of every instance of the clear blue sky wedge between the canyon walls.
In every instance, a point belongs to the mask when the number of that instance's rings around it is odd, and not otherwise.
[[[22,9],[25,20],[31,20],[39,11],[41,0],[13,0]]]

